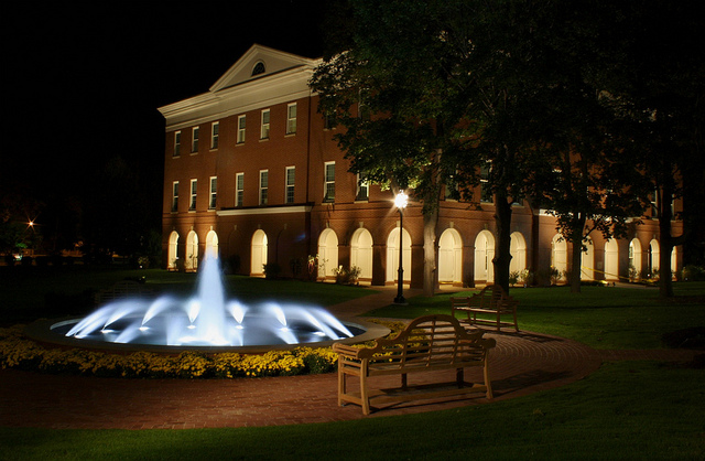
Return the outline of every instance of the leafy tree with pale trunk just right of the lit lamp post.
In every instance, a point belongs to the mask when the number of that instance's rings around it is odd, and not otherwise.
[[[433,294],[436,225],[446,153],[465,141],[458,50],[447,45],[440,2],[350,1],[345,51],[316,69],[319,110],[350,171],[382,187],[414,190],[423,203],[424,293]]]

